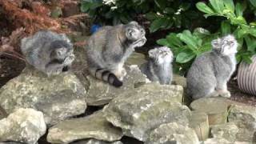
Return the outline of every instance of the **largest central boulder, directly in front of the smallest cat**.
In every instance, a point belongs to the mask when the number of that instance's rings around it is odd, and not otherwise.
[[[114,98],[104,108],[106,119],[127,136],[146,141],[150,130],[166,122],[188,123],[190,110],[182,106],[182,86],[149,83]]]

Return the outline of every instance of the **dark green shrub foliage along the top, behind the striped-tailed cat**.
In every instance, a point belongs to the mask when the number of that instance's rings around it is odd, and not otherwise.
[[[150,32],[162,29],[189,28],[192,18],[198,13],[191,9],[190,2],[174,0],[82,0],[81,10],[90,14],[93,22],[102,25],[117,25],[135,20],[145,14],[150,21]]]

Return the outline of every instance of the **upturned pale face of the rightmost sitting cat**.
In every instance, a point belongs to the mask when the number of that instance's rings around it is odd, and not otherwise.
[[[238,42],[233,35],[227,35],[225,37],[215,39],[212,41],[212,46],[223,56],[236,54],[238,52]]]

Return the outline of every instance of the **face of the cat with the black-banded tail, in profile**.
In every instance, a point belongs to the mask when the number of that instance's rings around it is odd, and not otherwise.
[[[145,30],[137,22],[130,22],[126,25],[126,38],[134,42],[136,46],[143,46],[146,43]]]

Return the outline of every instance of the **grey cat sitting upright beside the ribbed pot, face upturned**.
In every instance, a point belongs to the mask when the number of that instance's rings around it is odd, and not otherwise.
[[[187,94],[192,98],[230,98],[226,83],[234,73],[238,42],[227,35],[211,42],[212,51],[195,59],[187,74]]]

